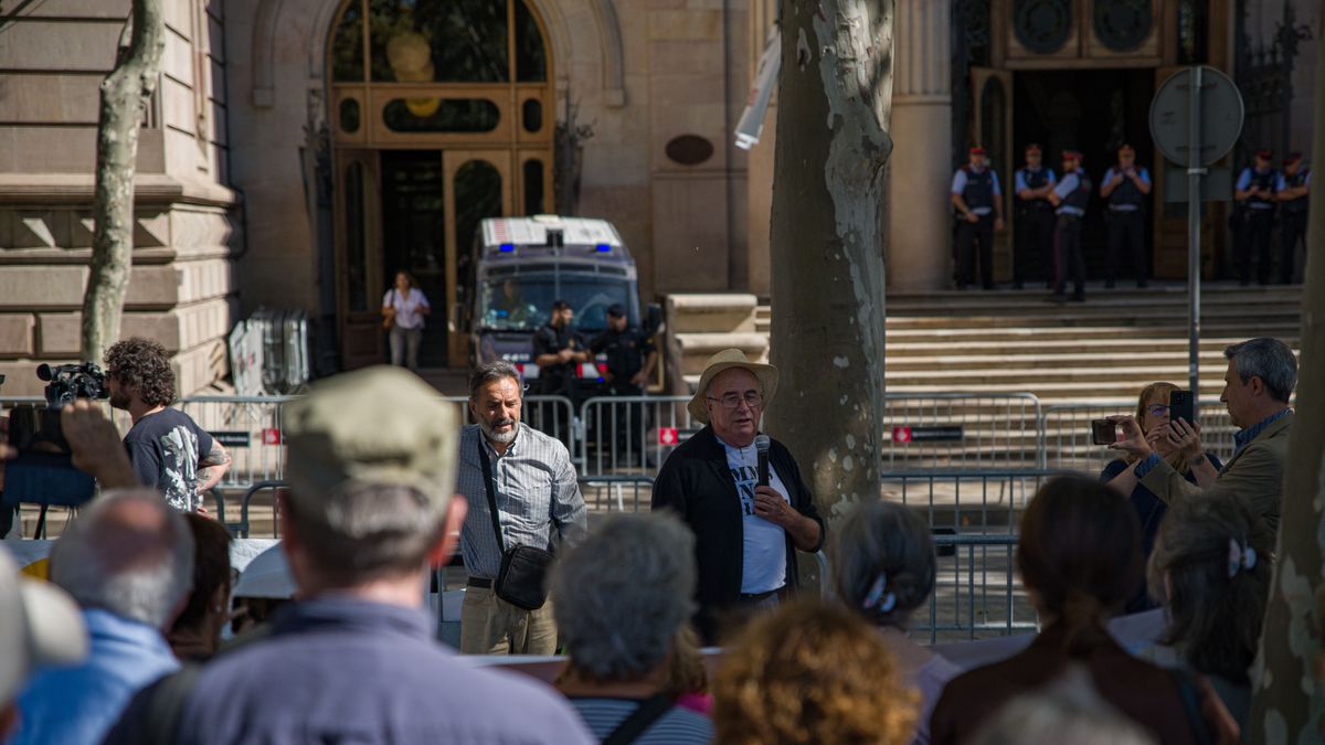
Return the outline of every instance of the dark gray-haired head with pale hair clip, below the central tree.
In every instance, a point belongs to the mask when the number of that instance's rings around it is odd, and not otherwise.
[[[902,626],[934,591],[934,541],[910,508],[864,502],[832,533],[837,598],[873,623]]]

